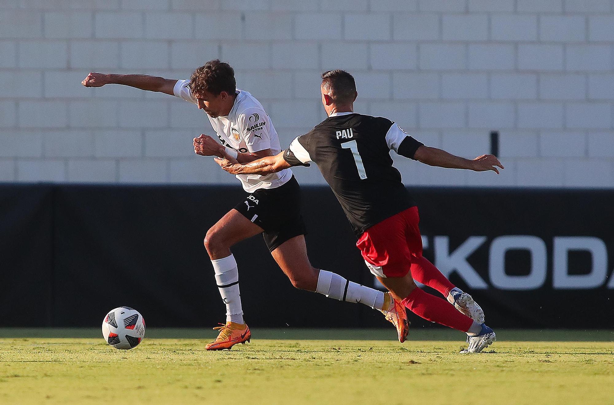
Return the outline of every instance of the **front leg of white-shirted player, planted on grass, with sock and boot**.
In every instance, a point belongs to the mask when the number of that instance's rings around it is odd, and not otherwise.
[[[226,323],[214,328],[219,330],[219,334],[216,340],[205,346],[207,350],[230,349],[235,344],[249,342],[252,336],[243,320],[239,272],[230,247],[262,231],[260,226],[232,209],[204,237],[204,247],[216,274],[217,288],[226,304]]]

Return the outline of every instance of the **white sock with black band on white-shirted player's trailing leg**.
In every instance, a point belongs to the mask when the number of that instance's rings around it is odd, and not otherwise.
[[[373,309],[382,309],[384,306],[382,291],[356,284],[330,271],[319,272],[316,292],[339,301],[365,304]]]

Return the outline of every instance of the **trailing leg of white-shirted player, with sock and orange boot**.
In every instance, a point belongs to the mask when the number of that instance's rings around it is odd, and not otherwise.
[[[378,309],[397,328],[398,341],[405,341],[409,328],[405,307],[400,300],[394,299],[390,293],[356,284],[338,274],[311,266],[303,235],[279,245],[271,255],[294,287]]]

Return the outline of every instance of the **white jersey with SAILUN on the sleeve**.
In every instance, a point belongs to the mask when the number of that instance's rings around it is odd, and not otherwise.
[[[173,93],[185,101],[196,104],[196,98],[190,91],[190,80],[177,80]],[[216,131],[222,145],[238,152],[258,152],[270,149],[273,155],[281,152],[281,145],[271,118],[266,114],[262,104],[247,91],[236,91],[235,105],[230,114],[211,118],[209,122]],[[259,174],[237,174],[243,190],[253,193],[261,188],[276,188],[292,178],[292,171],[284,169],[277,173],[260,176]]]

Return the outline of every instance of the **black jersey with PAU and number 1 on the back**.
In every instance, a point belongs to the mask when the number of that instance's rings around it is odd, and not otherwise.
[[[421,145],[387,118],[341,113],[292,141],[284,159],[292,166],[316,163],[360,235],[416,205],[390,151],[413,159]]]

